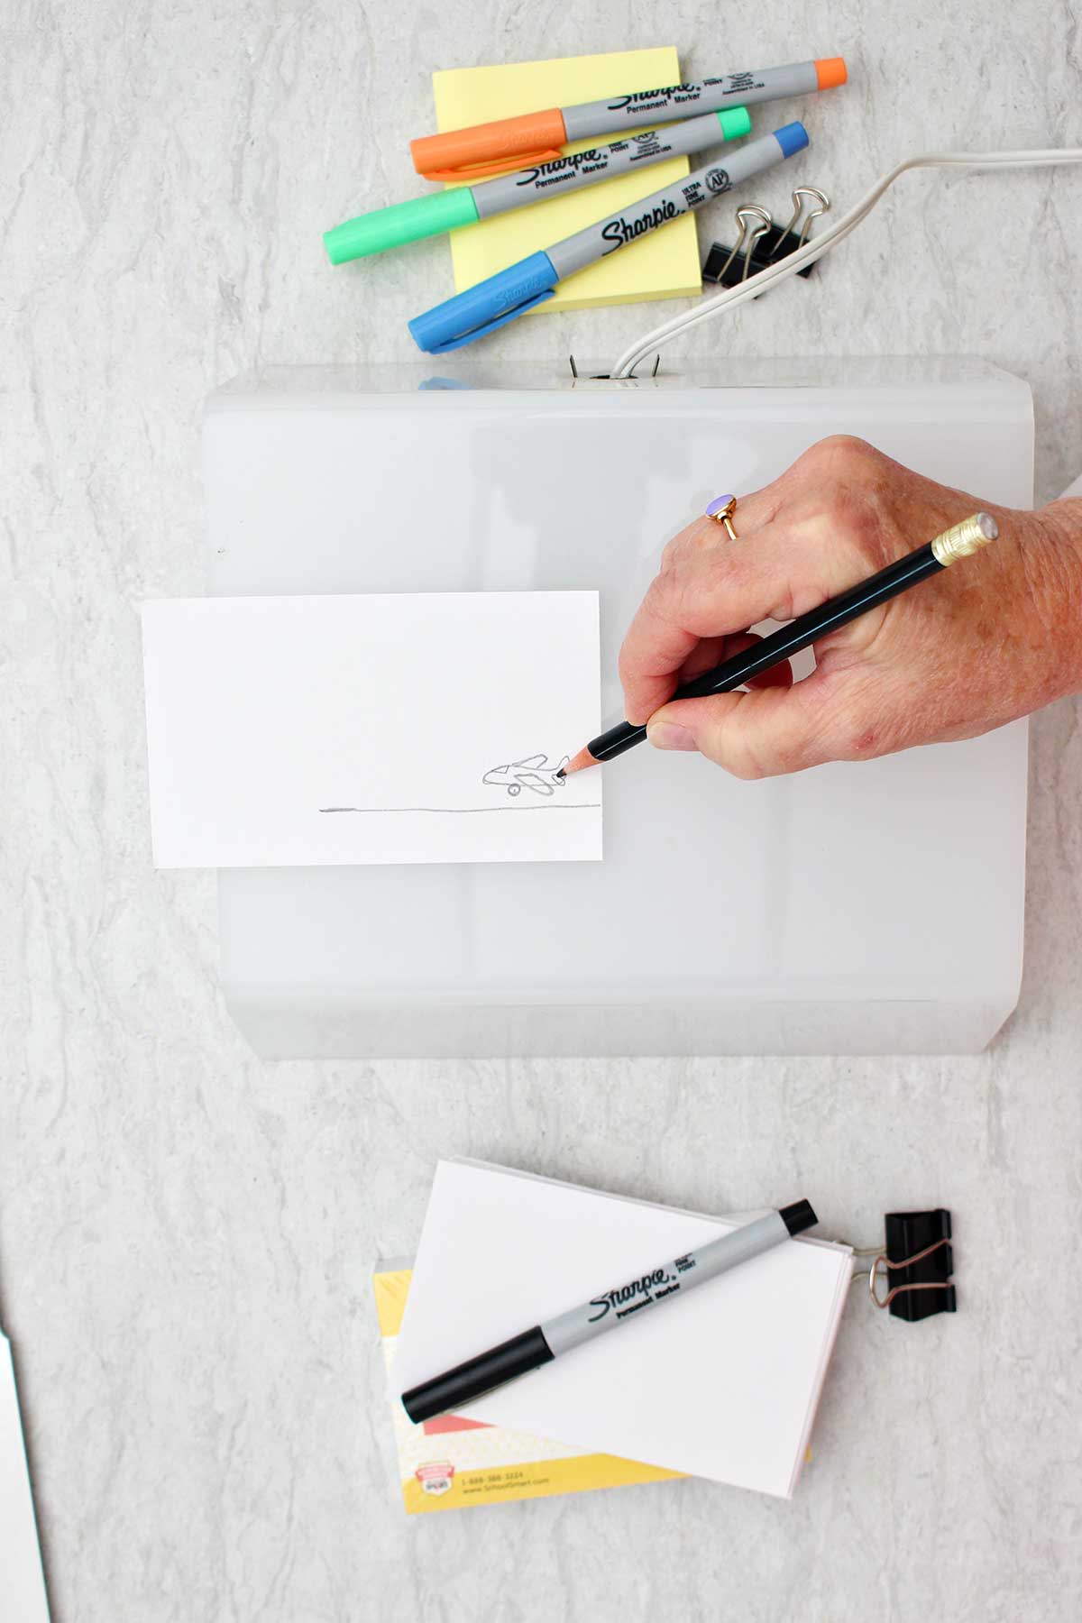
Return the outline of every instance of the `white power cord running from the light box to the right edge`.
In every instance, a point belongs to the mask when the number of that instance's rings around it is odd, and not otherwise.
[[[805,265],[814,265],[827,248],[832,248],[835,242],[848,237],[850,230],[860,226],[861,219],[873,211],[887,187],[899,175],[904,175],[907,169],[1045,169],[1054,164],[1082,164],[1082,146],[1048,146],[1017,153],[925,153],[920,157],[907,157],[897,169],[876,180],[874,187],[865,193],[860,203],[848,209],[847,214],[842,214],[834,226],[827,226],[811,242],[806,242],[803,248],[785,255],[784,260],[779,260],[777,265],[769,265],[764,271],[756,271],[754,276],[740,282],[738,287],[727,287],[725,292],[717,294],[714,299],[706,299],[694,310],[675,315],[670,321],[663,321],[662,326],[655,326],[652,333],[646,333],[629,349],[625,349],[612,370],[612,377],[631,377],[634,368],[647,355],[660,349],[662,344],[667,344],[670,338],[676,338],[678,333],[698,326],[699,321],[709,321],[712,316],[722,315],[722,312],[732,310],[748,299],[754,299],[756,294],[766,292],[777,282],[785,281],[787,276],[795,276]]]

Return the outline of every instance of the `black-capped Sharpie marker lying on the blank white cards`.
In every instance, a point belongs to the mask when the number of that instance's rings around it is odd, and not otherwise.
[[[701,1285],[707,1279],[728,1272],[740,1263],[769,1251],[772,1245],[780,1245],[790,1235],[803,1233],[819,1219],[808,1201],[796,1201],[793,1206],[782,1206],[777,1212],[756,1217],[754,1222],[733,1229],[719,1240],[709,1240],[698,1251],[686,1251],[660,1268],[654,1268],[638,1279],[629,1279],[615,1290],[602,1290],[590,1297],[582,1307],[571,1308],[558,1318],[535,1324],[532,1329],[513,1336],[511,1341],[490,1347],[488,1352],[467,1358],[466,1363],[435,1375],[420,1386],[412,1386],[402,1393],[402,1406],[410,1420],[419,1425],[449,1409],[461,1409],[474,1402],[496,1386],[539,1370],[542,1363],[552,1363],[573,1347],[581,1347],[584,1341],[603,1336],[628,1318],[657,1307],[668,1297],[683,1295],[693,1285]]]

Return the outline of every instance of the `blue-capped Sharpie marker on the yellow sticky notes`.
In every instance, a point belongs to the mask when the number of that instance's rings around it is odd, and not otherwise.
[[[555,242],[552,248],[539,248],[506,271],[496,271],[475,287],[446,299],[433,310],[414,316],[409,329],[420,349],[430,355],[446,354],[449,349],[461,349],[472,344],[496,328],[506,326],[516,316],[534,310],[545,299],[552,299],[556,284],[576,271],[586,269],[597,260],[603,260],[625,243],[667,226],[680,214],[702,208],[711,198],[720,196],[741,180],[772,169],[785,157],[803,151],[809,144],[803,123],[787,123],[771,135],[762,135],[754,141],[725,156],[723,162],[707,164],[696,169],[685,180],[631,203],[620,214],[599,219],[573,237]]]

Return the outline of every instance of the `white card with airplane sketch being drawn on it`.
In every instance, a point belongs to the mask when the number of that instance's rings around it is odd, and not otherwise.
[[[154,865],[584,862],[597,592],[143,605]]]

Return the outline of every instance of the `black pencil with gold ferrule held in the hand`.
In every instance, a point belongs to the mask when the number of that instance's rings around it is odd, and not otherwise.
[[[980,552],[998,534],[999,527],[991,513],[973,513],[960,524],[944,529],[942,536],[936,536],[926,547],[918,547],[917,552],[907,553],[897,563],[889,563],[878,575],[869,575],[858,586],[850,586],[839,597],[831,597],[818,609],[790,620],[788,625],[764,636],[761,643],[754,643],[741,654],[733,654],[725,664],[706,670],[694,682],[686,682],[676,688],[673,700],[698,700],[709,693],[730,693],[733,688],[743,687],[745,682],[762,675],[771,665],[779,665],[792,654],[798,654],[801,648],[818,643],[827,631],[837,631],[839,626],[848,625],[850,620],[868,613],[869,609],[884,604],[889,597],[897,597],[899,592],[908,591],[918,581],[939,575],[959,558],[968,558],[973,552]],[[599,761],[612,761],[625,750],[642,743],[644,738],[646,727],[634,727],[629,721],[621,721],[608,732],[590,738],[586,748],[568,761],[561,776],[581,773],[586,766],[597,766]]]

